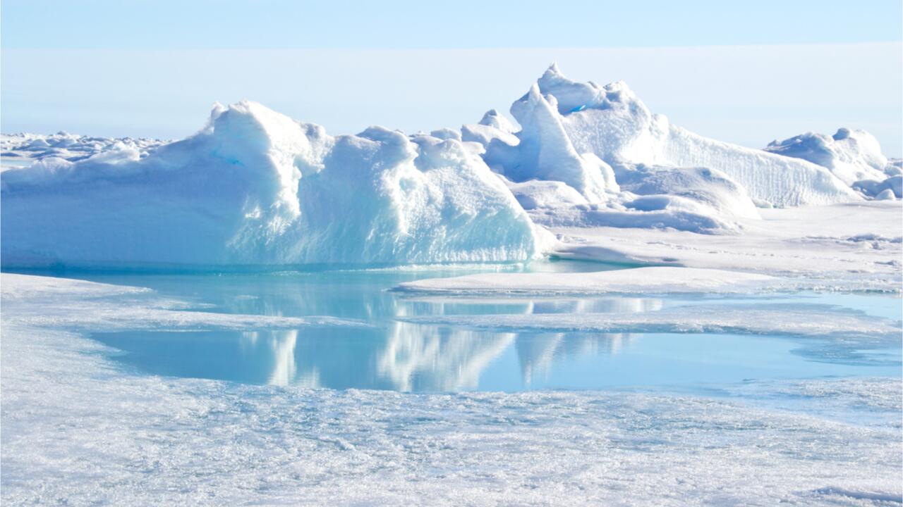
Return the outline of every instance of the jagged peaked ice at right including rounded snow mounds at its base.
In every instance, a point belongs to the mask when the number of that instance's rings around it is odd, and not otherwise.
[[[875,197],[893,183],[871,166],[896,168],[862,131],[842,129],[849,134],[834,143],[868,169],[860,176],[880,180],[844,178],[824,161],[792,152],[707,139],[654,115],[623,81],[581,83],[554,64],[512,104],[511,115],[519,131],[491,110],[479,124],[464,125],[461,139],[479,144],[489,167],[543,226],[733,235],[741,232],[739,219],[759,216],[757,207]]]

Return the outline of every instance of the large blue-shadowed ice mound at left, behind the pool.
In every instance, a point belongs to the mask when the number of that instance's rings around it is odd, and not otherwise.
[[[454,136],[333,137],[253,102],[144,158],[5,171],[2,233],[6,265],[522,261],[545,237]]]

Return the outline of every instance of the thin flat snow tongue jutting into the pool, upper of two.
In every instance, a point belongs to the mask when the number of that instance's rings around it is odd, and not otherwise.
[[[756,273],[655,266],[571,273],[478,273],[408,281],[396,290],[437,294],[663,294],[749,293],[774,290],[781,280]]]

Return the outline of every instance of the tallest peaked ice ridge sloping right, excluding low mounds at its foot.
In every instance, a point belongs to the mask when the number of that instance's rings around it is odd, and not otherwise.
[[[610,168],[639,163],[718,171],[766,207],[861,198],[821,165],[694,134],[652,114],[623,81],[580,83],[554,64],[515,101],[511,114],[523,127],[514,134],[518,143],[502,135],[479,140],[489,166],[509,180],[563,181],[591,203],[619,191]]]

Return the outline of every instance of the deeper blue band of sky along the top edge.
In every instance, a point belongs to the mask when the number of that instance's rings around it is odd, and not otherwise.
[[[899,41],[899,0],[4,0],[5,48],[558,48]]]

